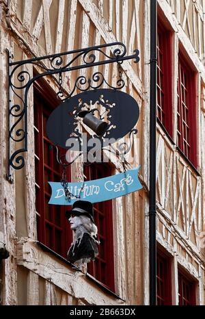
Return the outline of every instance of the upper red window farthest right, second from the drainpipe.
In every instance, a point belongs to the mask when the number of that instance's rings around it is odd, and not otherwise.
[[[177,144],[184,155],[197,166],[195,74],[179,55]]]

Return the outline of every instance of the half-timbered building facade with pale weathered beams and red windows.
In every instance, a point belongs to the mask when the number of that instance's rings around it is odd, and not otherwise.
[[[158,305],[205,303],[204,12],[204,0],[158,0]],[[0,247],[10,253],[0,260],[1,304],[149,304],[150,27],[150,0],[0,1]],[[46,120],[61,103],[55,76],[36,81],[29,90],[25,166],[12,170],[12,183],[7,179],[8,55],[12,61],[27,60],[117,41],[126,45],[128,55],[139,49],[139,63],[124,61],[121,68],[126,83],[122,90],[136,99],[140,109],[126,162],[141,165],[143,188],[94,206],[101,244],[85,275],[66,261],[72,242],[66,208],[48,204],[47,182],[59,181],[62,173],[46,136]],[[106,53],[112,53],[111,47]],[[40,72],[32,64],[24,71],[31,76]],[[97,71],[115,84],[117,65],[95,66],[93,73]],[[64,92],[69,94],[75,79],[89,72],[83,68],[64,73]],[[20,103],[12,92],[11,99],[13,105]],[[13,111],[20,112],[18,107]],[[16,144],[12,142],[11,148]],[[122,172],[118,157],[107,156],[108,163],[88,168],[74,162],[67,169],[68,179]]]

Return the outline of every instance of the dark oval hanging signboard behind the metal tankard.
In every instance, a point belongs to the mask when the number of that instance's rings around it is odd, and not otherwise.
[[[96,108],[97,107],[97,108]],[[79,114],[82,111],[93,111],[100,120],[107,121],[107,129],[102,136],[94,132],[87,138],[87,151],[90,149],[89,141],[98,138],[102,146],[108,146],[126,136],[139,118],[139,106],[135,99],[125,92],[111,89],[98,89],[83,92],[61,103],[49,116],[46,133],[49,139],[64,149],[75,149],[74,139],[82,146],[81,132],[79,131]]]

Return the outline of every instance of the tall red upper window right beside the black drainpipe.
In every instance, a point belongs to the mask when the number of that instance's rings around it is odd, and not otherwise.
[[[157,118],[172,136],[172,37],[160,21],[157,28]]]

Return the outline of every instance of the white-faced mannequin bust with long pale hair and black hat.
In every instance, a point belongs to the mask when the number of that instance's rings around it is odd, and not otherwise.
[[[98,229],[94,224],[94,209],[89,201],[76,201],[72,209],[66,212],[66,218],[70,222],[70,229],[74,231],[72,242],[67,259],[75,266],[87,264],[98,255],[97,233]]]

